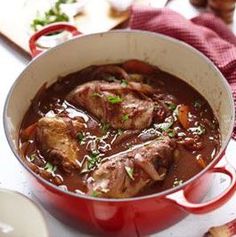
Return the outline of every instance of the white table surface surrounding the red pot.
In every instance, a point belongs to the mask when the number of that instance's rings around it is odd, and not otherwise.
[[[193,9],[187,0],[175,0],[170,7],[180,11],[186,16],[196,15],[197,11]],[[231,26],[234,29],[234,25]],[[0,37],[0,118],[2,119],[4,102],[7,93],[18,77],[24,70],[28,61],[13,49],[6,41]],[[21,165],[18,163],[11,152],[5,138],[3,123],[0,123],[0,188],[17,190],[26,196],[34,199],[29,190],[27,180],[23,174]],[[236,142],[231,140],[227,149],[227,160],[236,168]],[[217,175],[209,191],[208,198],[222,191],[227,185],[227,180],[221,175]],[[36,202],[36,201],[35,201]],[[38,204],[38,203],[37,203]],[[39,204],[38,204],[39,205]],[[43,209],[47,220],[51,237],[83,237],[88,236],[65,226],[63,223],[52,217]],[[0,213],[1,217],[1,213]],[[171,228],[153,235],[153,237],[199,237],[202,236],[211,226],[221,225],[229,220],[236,218],[236,194],[231,200],[221,208],[205,215],[189,215],[183,221]],[[125,236],[124,236],[125,237]]]

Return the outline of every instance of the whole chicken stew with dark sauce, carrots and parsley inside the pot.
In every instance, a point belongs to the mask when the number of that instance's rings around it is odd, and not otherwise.
[[[43,85],[19,139],[35,173],[63,190],[101,198],[176,187],[204,169],[220,145],[208,102],[138,60],[89,66]]]

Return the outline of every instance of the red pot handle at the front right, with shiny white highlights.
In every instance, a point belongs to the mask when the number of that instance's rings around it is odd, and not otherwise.
[[[185,191],[182,189],[176,193],[168,195],[167,199],[174,201],[179,207],[192,214],[204,214],[222,206],[236,191],[236,171],[231,166],[223,166],[212,168],[209,172],[225,174],[230,178],[229,187],[227,187],[227,189],[216,198],[205,203],[192,203],[186,198]]]

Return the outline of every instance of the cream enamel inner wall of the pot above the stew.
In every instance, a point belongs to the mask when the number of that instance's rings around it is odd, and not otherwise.
[[[30,62],[12,86],[4,111],[4,128],[15,155],[19,158],[18,133],[24,114],[44,83],[50,85],[59,76],[89,65],[119,63],[128,59],[146,61],[181,78],[209,102],[219,121],[222,135],[220,152],[208,166],[213,167],[226,149],[234,124],[233,98],[225,78],[209,59],[192,47],[160,34],[143,31],[111,31],[78,36]],[[166,191],[165,194],[174,191]]]

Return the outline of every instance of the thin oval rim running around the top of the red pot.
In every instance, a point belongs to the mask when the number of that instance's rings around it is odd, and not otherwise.
[[[9,131],[8,131],[8,126],[7,126],[7,108],[8,108],[8,104],[10,101],[10,97],[12,95],[12,92],[14,90],[14,88],[16,87],[17,83],[19,82],[21,76],[27,71],[28,67],[32,64],[35,63],[35,61],[37,60],[37,58],[39,57],[44,57],[44,55],[50,54],[51,51],[53,50],[57,50],[57,48],[59,47],[64,47],[65,44],[69,44],[71,41],[77,41],[80,38],[84,38],[84,37],[94,37],[94,36],[103,36],[104,34],[148,34],[151,37],[159,37],[163,40],[167,40],[167,41],[171,41],[173,43],[177,43],[185,48],[188,48],[188,50],[191,50],[193,53],[198,54],[200,57],[202,57],[207,63],[208,65],[210,65],[218,74],[219,78],[221,78],[222,82],[224,83],[224,87],[229,95],[230,101],[231,101],[231,116],[232,116],[232,122],[230,124],[230,128],[229,131],[227,133],[226,139],[224,141],[224,143],[222,144],[219,153],[217,154],[217,156],[198,174],[196,174],[195,176],[193,176],[192,178],[190,178],[189,180],[185,181],[183,184],[174,187],[174,188],[170,188],[167,189],[163,192],[160,193],[154,193],[154,194],[150,194],[150,195],[145,195],[145,196],[141,196],[141,197],[132,197],[132,198],[121,198],[121,199],[115,199],[115,198],[97,198],[97,197],[92,197],[92,196],[88,196],[88,195],[83,195],[83,194],[79,194],[79,193],[74,193],[71,191],[64,191],[62,189],[60,189],[58,186],[50,183],[49,181],[43,179],[41,176],[37,175],[36,173],[34,173],[25,163],[24,161],[20,158],[20,155],[18,154],[17,150],[14,149],[14,145],[13,142],[10,138],[9,135]],[[6,97],[6,101],[5,101],[5,105],[4,105],[4,110],[3,110],[3,127],[4,127],[4,132],[8,141],[8,144],[10,145],[10,148],[12,150],[12,152],[14,153],[15,157],[17,158],[17,160],[22,164],[22,166],[31,174],[34,176],[34,178],[36,178],[40,183],[42,183],[45,186],[49,186],[52,189],[55,189],[55,191],[61,192],[62,194],[65,195],[69,195],[71,197],[74,198],[82,198],[84,200],[90,200],[90,201],[98,201],[98,202],[110,202],[110,203],[117,203],[117,202],[132,202],[132,201],[142,201],[145,199],[151,199],[151,198],[163,198],[169,194],[175,193],[181,189],[186,188],[189,184],[193,183],[195,180],[197,180],[198,178],[200,178],[202,175],[204,175],[209,169],[213,168],[223,157],[224,152],[226,150],[226,147],[230,141],[232,132],[233,132],[233,128],[234,128],[234,120],[235,120],[235,108],[234,108],[234,100],[233,100],[233,95],[231,93],[231,88],[230,85],[228,84],[227,80],[225,79],[225,77],[223,76],[223,74],[220,72],[220,70],[215,66],[215,64],[209,59],[207,58],[202,52],[198,51],[197,49],[195,49],[194,47],[192,47],[191,45],[180,41],[178,39],[166,36],[164,34],[160,34],[160,33],[155,33],[155,32],[149,32],[149,31],[144,31],[144,30],[112,30],[112,31],[108,31],[108,32],[102,32],[102,33],[93,33],[93,34],[88,34],[88,35],[78,35],[73,37],[72,39],[69,39],[68,41],[57,45],[49,50],[47,50],[46,52],[37,55],[35,58],[33,58],[33,60],[31,60],[28,65],[25,67],[25,69],[20,73],[20,75],[17,77],[17,79],[15,80],[15,82],[13,83],[13,85],[11,86],[7,97]]]

